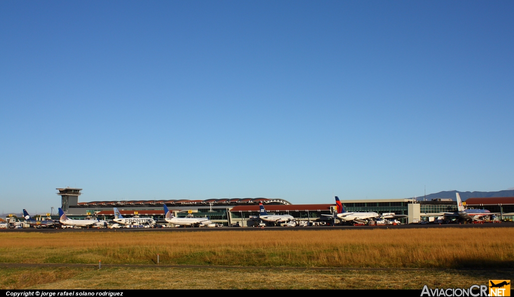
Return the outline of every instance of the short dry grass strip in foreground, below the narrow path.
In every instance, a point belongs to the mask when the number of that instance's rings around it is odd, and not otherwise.
[[[0,289],[421,289],[512,279],[501,270],[0,268]]]

